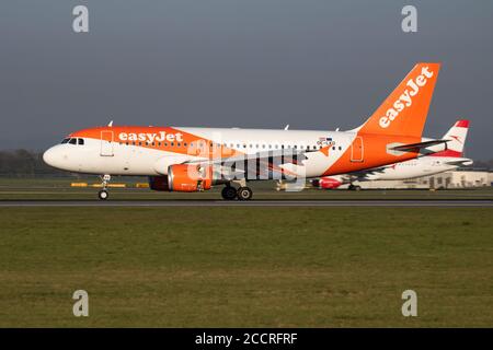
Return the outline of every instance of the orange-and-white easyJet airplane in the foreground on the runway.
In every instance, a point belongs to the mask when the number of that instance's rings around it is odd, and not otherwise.
[[[47,164],[102,175],[146,175],[154,190],[225,185],[222,198],[248,200],[246,182],[346,174],[417,158],[446,140],[423,142],[439,63],[417,63],[375,113],[349,131],[95,127],[70,133],[44,153]],[[239,188],[232,186],[238,184]]]

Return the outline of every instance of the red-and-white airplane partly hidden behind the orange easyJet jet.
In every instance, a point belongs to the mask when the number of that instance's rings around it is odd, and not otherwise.
[[[383,165],[376,168],[343,174],[325,176],[313,179],[312,185],[324,189],[337,188],[344,184],[349,184],[348,189],[360,189],[354,182],[382,180],[382,179],[408,179],[428,175],[435,175],[455,170],[459,166],[471,165],[472,160],[463,158],[463,147],[468,135],[469,120],[458,120],[444,136],[447,140],[446,150],[423,155],[414,160]],[[428,141],[429,139],[423,139]],[[442,145],[438,145],[442,147]],[[437,150],[437,145],[432,145],[427,150]]]

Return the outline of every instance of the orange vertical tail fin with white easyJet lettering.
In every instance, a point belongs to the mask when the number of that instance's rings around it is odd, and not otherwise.
[[[440,63],[417,63],[358,133],[421,138]]]

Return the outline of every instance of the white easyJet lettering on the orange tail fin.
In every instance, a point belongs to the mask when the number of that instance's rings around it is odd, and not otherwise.
[[[434,75],[433,71],[428,69],[428,67],[423,67],[420,75],[408,81],[406,86],[409,89],[404,90],[399,100],[393,103],[392,108],[387,109],[386,115],[380,118],[380,127],[388,128],[402,110],[413,104],[413,97],[417,95],[420,88],[426,85],[428,79]]]

